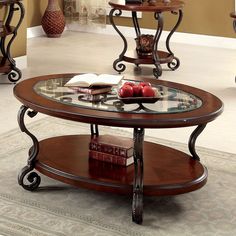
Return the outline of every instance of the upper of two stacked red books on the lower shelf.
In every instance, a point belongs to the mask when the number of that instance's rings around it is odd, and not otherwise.
[[[131,138],[113,135],[99,135],[91,138],[89,149],[125,158],[133,156],[134,150]]]

